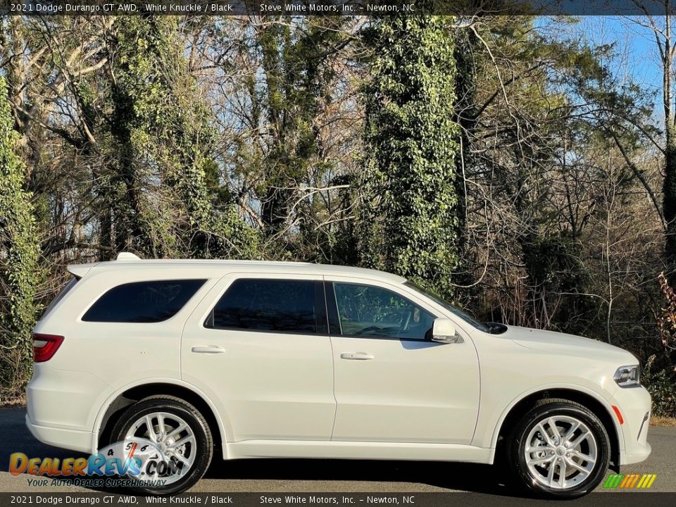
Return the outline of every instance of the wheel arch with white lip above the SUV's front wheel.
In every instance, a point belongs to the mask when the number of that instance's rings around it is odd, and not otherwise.
[[[620,453],[623,449],[622,429],[618,427],[618,423],[613,417],[612,408],[605,400],[598,396],[587,392],[586,390],[575,389],[572,387],[549,387],[541,389],[530,394],[525,394],[520,399],[511,403],[498,425],[498,429],[494,434],[492,441],[492,448],[495,450],[496,456],[499,455],[501,449],[501,441],[508,434],[511,428],[518,422],[519,418],[525,411],[534,405],[537,401],[547,398],[562,398],[570,401],[580,403],[594,414],[596,414],[603,427],[608,432],[608,437],[611,440],[611,467],[618,468],[620,463]]]

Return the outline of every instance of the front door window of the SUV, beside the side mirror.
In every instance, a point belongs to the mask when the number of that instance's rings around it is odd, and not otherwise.
[[[333,282],[340,333],[350,337],[424,340],[434,315],[382,287]]]

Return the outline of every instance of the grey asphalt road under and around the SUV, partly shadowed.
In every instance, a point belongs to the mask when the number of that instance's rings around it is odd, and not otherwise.
[[[24,425],[23,408],[0,408],[0,492],[87,492],[73,486],[35,487],[30,476],[8,472],[9,456],[77,457],[46,446]],[[622,473],[656,473],[654,492],[676,492],[676,428],[651,427],[648,460],[622,467]],[[608,489],[601,491],[609,491]],[[213,463],[191,492],[477,492],[510,496],[511,489],[488,465],[418,461],[240,460]]]

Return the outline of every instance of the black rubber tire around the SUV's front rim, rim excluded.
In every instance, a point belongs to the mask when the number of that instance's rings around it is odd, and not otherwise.
[[[525,445],[527,444],[526,439],[532,428],[543,419],[555,415],[568,415],[582,420],[594,433],[594,439],[596,439],[596,445],[598,446],[598,458],[587,480],[582,482],[582,484],[565,490],[553,489],[537,482],[528,471],[524,452]],[[568,406],[565,403],[554,403],[552,406],[536,408],[522,419],[522,422],[517,427],[516,436],[516,442],[513,443],[513,452],[516,456],[512,456],[512,463],[515,463],[514,470],[516,475],[518,475],[518,479],[531,492],[542,496],[574,498],[591,492],[599,485],[606,474],[608,462],[610,461],[610,439],[606,428],[603,427],[599,418],[591,412],[581,410],[575,406]]]

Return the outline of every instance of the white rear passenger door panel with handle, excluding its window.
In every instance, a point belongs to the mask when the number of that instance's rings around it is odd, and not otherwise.
[[[287,273],[224,277],[185,325],[183,380],[208,393],[219,411],[227,414],[228,442],[330,439],[336,401],[329,337],[204,327],[208,312],[237,277],[321,280],[317,275]],[[195,347],[223,351],[196,353]]]

